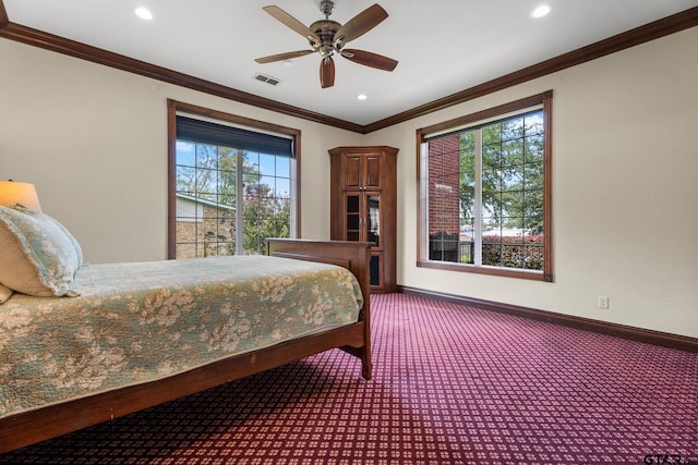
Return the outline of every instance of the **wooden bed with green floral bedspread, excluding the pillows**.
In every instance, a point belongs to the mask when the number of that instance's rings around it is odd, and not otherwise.
[[[267,256],[82,266],[60,295],[14,292],[0,453],[330,348],[370,379],[370,245],[268,240]]]

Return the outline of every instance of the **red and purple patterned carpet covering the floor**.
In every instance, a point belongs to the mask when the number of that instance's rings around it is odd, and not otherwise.
[[[3,464],[698,464],[698,354],[374,295],[374,379],[330,351]]]

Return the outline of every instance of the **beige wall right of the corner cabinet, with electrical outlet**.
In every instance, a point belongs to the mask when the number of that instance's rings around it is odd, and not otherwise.
[[[694,27],[369,134],[400,148],[397,282],[698,338],[696,50]],[[555,282],[417,268],[416,130],[547,89]]]

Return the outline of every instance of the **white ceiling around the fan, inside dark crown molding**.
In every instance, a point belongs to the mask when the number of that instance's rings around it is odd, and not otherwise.
[[[341,24],[374,0],[336,0]],[[539,20],[529,12],[546,2]],[[698,5],[698,0],[378,0],[389,16],[349,42],[399,61],[394,72],[335,58],[320,87],[320,56],[257,64],[310,48],[262,10],[276,4],[310,25],[318,0],[3,0],[12,23],[351,123],[370,124]],[[133,14],[147,7],[151,22]],[[277,86],[253,78],[263,73]],[[365,94],[366,100],[357,99]]]

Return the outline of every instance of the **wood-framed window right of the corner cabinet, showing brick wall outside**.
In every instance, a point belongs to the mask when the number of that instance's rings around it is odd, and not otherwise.
[[[418,131],[418,266],[552,281],[552,91]]]

